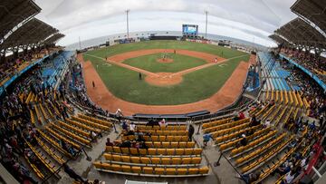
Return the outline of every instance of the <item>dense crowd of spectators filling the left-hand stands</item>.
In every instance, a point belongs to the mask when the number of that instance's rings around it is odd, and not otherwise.
[[[35,124],[31,122],[29,113],[29,110],[33,109],[34,106],[26,102],[29,93],[34,93],[42,103],[52,102],[61,112],[58,114],[50,108],[50,111],[56,115],[56,119],[63,120],[68,117],[67,108],[54,100],[55,96],[64,100],[64,86],[60,87],[60,92],[54,90],[53,86],[48,85],[46,79],[43,79],[41,71],[42,66],[40,64],[35,65],[33,69],[24,73],[19,80],[7,88],[1,96],[0,161],[14,178],[22,183],[24,181],[36,183],[31,177],[30,170],[21,160],[23,157],[34,165],[42,165],[26,144],[26,141],[32,145],[36,144],[35,137],[38,134]],[[73,150],[64,140],[60,144],[64,150],[69,151],[72,155],[76,153],[76,150]]]

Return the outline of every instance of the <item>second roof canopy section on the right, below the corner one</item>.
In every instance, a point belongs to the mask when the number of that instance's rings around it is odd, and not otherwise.
[[[311,24],[301,18],[295,18],[275,31],[295,45],[304,45],[315,48],[326,48],[326,38]]]

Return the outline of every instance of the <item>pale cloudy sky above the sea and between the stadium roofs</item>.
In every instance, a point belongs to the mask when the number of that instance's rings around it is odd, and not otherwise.
[[[125,10],[129,9],[129,32],[181,31],[182,24],[198,24],[208,34],[273,45],[268,39],[275,29],[292,20],[295,0],[35,0],[43,10],[37,18],[66,36],[62,45],[126,32]]]

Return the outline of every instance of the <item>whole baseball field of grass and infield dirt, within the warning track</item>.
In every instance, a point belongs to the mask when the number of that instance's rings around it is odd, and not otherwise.
[[[116,44],[82,54],[82,60],[91,62],[87,66],[96,72],[91,75],[101,78],[90,91],[100,90],[96,88],[103,83],[104,90],[123,102],[158,107],[213,97],[231,75],[236,77],[236,68],[248,66],[249,57],[248,53],[221,46],[182,41]],[[90,73],[85,75],[91,82]],[[105,102],[100,96],[93,98]]]

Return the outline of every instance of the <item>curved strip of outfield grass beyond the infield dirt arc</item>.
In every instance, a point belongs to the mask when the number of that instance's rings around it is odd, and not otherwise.
[[[213,44],[199,44],[186,41],[146,41],[133,44],[116,44],[110,47],[89,51],[87,53],[97,55],[99,57],[112,56],[118,53],[126,53],[129,51],[143,50],[143,49],[186,49],[190,51],[198,51],[203,53],[216,54],[223,58],[231,58],[243,55],[243,52],[234,49],[225,48],[223,46]]]

